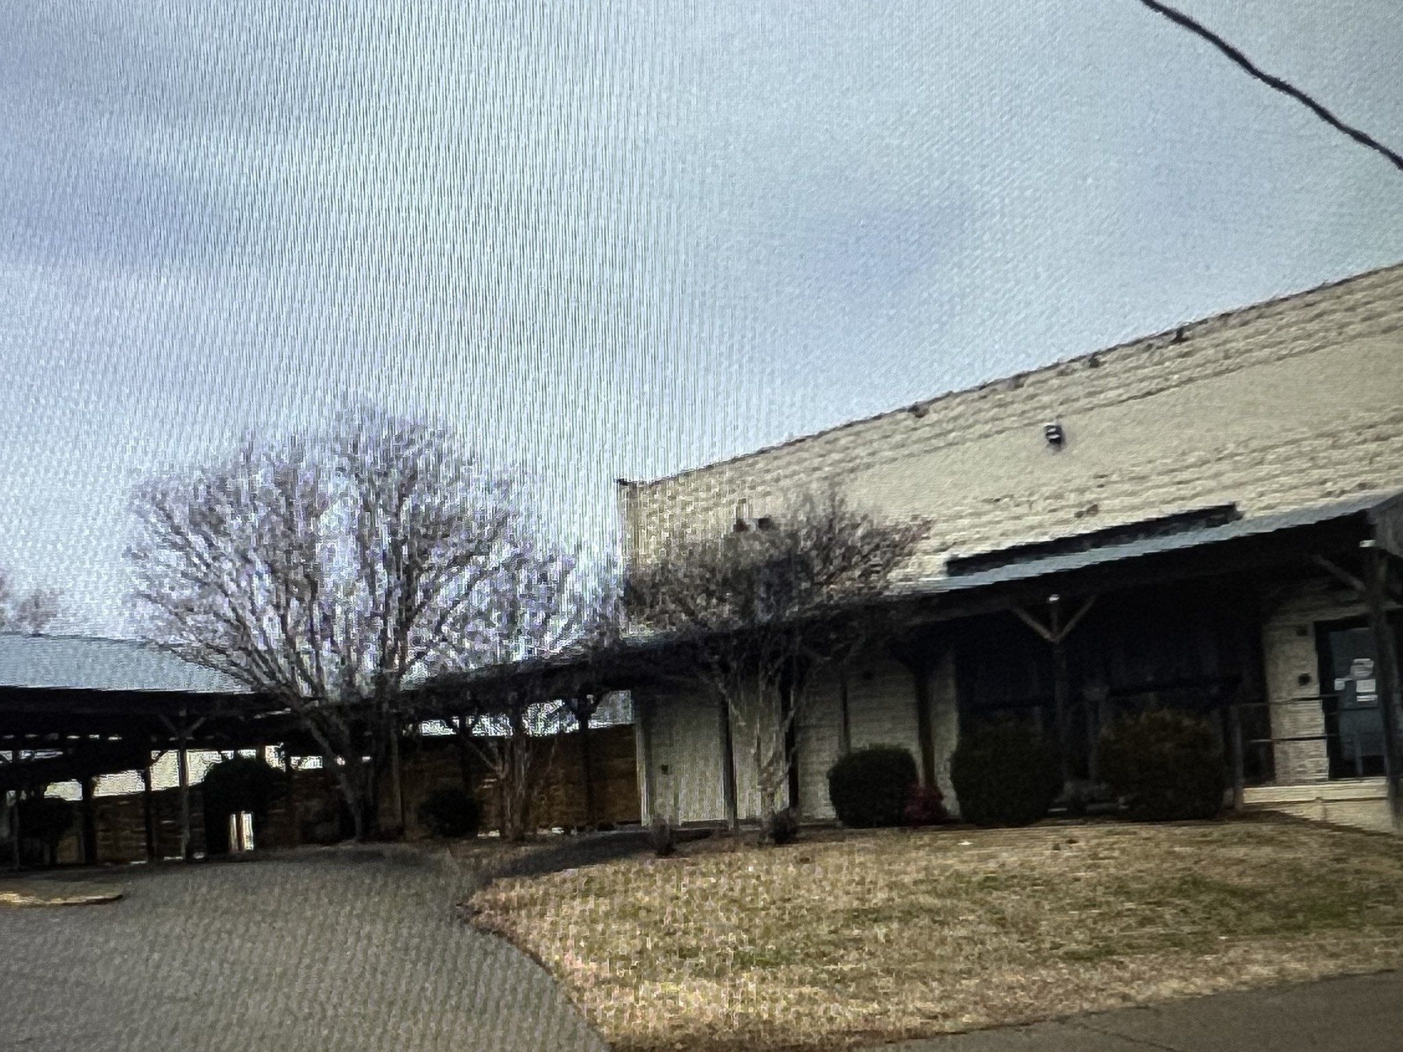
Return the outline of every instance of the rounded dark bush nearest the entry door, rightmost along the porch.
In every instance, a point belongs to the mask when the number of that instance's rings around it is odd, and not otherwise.
[[[1152,708],[1106,728],[1101,777],[1143,822],[1218,818],[1228,777],[1208,722],[1193,713]]]

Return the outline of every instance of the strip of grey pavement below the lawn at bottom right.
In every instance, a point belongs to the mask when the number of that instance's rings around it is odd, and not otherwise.
[[[1399,1052],[1403,972],[1219,993],[881,1048],[885,1052]]]

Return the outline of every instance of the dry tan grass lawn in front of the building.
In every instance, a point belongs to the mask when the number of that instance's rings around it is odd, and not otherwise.
[[[1289,819],[815,833],[470,905],[620,1052],[840,1049],[1400,966],[1403,840]]]

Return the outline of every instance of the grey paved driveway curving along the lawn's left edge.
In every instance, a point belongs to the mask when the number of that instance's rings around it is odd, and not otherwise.
[[[453,916],[467,879],[424,856],[293,853],[121,881],[109,905],[0,909],[0,1048],[605,1049],[540,968]]]

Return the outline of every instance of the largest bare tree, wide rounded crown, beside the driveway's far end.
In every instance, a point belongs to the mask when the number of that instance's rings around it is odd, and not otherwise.
[[[154,478],[133,511],[147,634],[292,710],[356,835],[376,829],[403,686],[488,649],[504,575],[525,565],[511,481],[448,432],[362,407]]]

